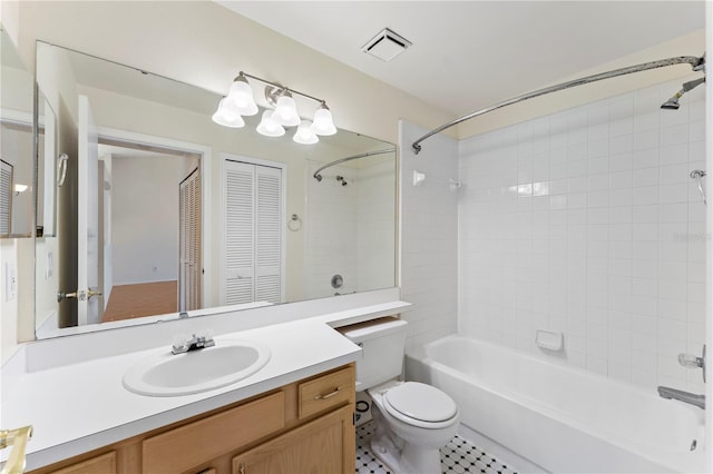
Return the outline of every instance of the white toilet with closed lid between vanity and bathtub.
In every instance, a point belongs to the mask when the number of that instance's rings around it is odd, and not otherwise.
[[[373,402],[371,450],[395,473],[440,473],[439,448],[458,429],[458,406],[436,387],[397,381],[403,364],[407,322],[382,318],[370,323],[342,334],[362,347],[362,357],[356,361],[356,391],[367,391]]]

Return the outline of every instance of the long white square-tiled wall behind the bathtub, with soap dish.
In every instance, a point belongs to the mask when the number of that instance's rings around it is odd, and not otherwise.
[[[645,388],[703,391],[703,88],[666,83],[460,142],[461,332]],[[710,178],[709,178],[710,179]],[[705,185],[705,182],[704,182]],[[565,334],[565,353],[534,345]]]

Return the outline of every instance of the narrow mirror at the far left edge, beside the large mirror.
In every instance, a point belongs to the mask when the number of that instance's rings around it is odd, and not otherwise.
[[[0,238],[30,237],[35,80],[0,29]],[[43,130],[42,130],[43,132]],[[42,150],[40,150],[42,151]]]

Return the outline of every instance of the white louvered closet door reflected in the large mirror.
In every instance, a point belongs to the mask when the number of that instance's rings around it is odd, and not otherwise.
[[[225,304],[280,303],[282,170],[226,160]]]

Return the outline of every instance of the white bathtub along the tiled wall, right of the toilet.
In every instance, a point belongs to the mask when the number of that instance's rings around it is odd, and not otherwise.
[[[549,472],[705,471],[704,412],[655,392],[462,336],[409,355],[407,375],[448,393],[467,428]]]

